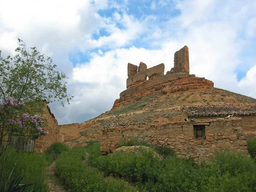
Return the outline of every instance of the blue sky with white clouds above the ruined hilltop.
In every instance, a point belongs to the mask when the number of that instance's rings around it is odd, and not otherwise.
[[[127,64],[174,63],[189,47],[190,74],[256,98],[255,0],[0,0],[0,50],[17,38],[69,77],[70,105],[49,106],[58,123],[111,110],[126,89]]]

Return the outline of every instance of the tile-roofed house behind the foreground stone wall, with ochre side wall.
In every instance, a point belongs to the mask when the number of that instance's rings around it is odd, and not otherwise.
[[[241,118],[241,128],[247,138],[256,138],[256,105],[224,104],[224,105],[191,105],[183,106],[181,121],[191,119],[209,120],[224,119],[228,116]]]

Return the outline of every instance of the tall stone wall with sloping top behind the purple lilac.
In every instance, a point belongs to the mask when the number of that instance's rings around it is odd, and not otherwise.
[[[51,113],[51,110],[46,102],[44,102],[44,114],[41,115],[41,119],[44,120],[46,126],[44,127],[45,131],[48,131],[48,136],[42,136],[39,139],[35,140],[34,151],[42,153],[52,145],[52,143],[59,141],[60,128],[58,125],[55,116]]]

